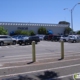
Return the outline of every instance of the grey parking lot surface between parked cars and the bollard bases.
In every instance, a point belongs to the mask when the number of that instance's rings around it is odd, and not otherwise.
[[[65,57],[80,56],[80,43],[64,43]],[[60,58],[61,43],[51,41],[40,41],[36,44],[37,60]],[[19,46],[8,45],[0,46],[0,62],[15,62],[32,60],[32,45]]]

